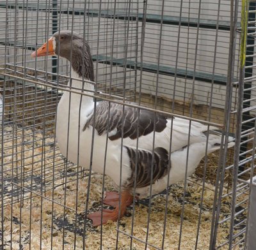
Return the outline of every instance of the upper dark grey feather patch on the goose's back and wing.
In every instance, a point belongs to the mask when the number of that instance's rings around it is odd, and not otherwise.
[[[93,122],[93,114],[92,111],[90,118],[84,125],[83,131],[88,126],[94,126],[99,135],[102,135],[103,133],[108,133],[116,129],[115,135],[109,136],[110,140],[116,140],[122,137],[122,126],[124,126],[124,138],[136,139],[137,135],[140,137],[154,131],[154,121],[156,121],[156,132],[163,131],[167,123],[164,115],[147,110],[139,110],[138,108],[124,107],[123,105],[109,103],[108,101],[100,101],[97,105],[95,123]]]

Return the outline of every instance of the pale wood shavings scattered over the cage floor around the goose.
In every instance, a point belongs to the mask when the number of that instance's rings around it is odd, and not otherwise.
[[[154,196],[151,206],[147,199],[140,200],[134,205],[134,215],[131,206],[127,216],[121,219],[119,233],[117,223],[108,223],[101,230],[93,228],[84,214],[86,205],[88,212],[101,207],[102,175],[93,173],[91,176],[86,203],[88,171],[65,162],[51,131],[42,133],[10,125],[4,128],[3,140],[4,249],[12,245],[12,249],[26,250],[29,244],[31,249],[62,249],[63,244],[65,249],[74,249],[75,244],[76,249],[83,249],[85,244],[87,249],[100,249],[102,245],[102,249],[116,249],[117,246],[117,249],[126,250],[131,249],[132,244],[132,249],[140,250],[145,249],[143,242],[147,240],[150,244],[147,249],[151,250],[155,249],[152,246],[161,248],[163,236],[164,249],[177,249],[180,230],[180,249],[195,249],[196,235],[199,235],[197,249],[209,248],[215,190],[209,180],[205,183],[202,209],[203,183],[198,177],[192,177],[185,195],[183,183],[172,185],[167,205],[164,194]],[[104,189],[114,190],[108,177]],[[222,203],[220,219],[230,214],[230,197],[223,198]],[[220,224],[217,246],[228,239],[228,230],[229,221]],[[129,235],[134,237],[132,243]]]

